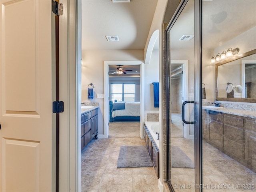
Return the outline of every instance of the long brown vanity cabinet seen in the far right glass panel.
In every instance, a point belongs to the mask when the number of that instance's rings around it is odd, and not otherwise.
[[[256,119],[202,110],[203,140],[256,171]]]

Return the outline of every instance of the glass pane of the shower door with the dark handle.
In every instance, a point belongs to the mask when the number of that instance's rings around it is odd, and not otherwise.
[[[175,192],[195,191],[194,124],[194,0],[182,7],[168,34],[169,143],[168,182]],[[187,67],[187,70],[183,70]],[[187,80],[185,83],[184,78]]]

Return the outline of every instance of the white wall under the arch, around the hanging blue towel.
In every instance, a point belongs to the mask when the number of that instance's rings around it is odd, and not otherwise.
[[[156,42],[158,43],[158,42]],[[159,82],[159,50],[153,50],[149,64],[144,66],[144,110],[158,111],[154,107],[154,94],[152,82]]]

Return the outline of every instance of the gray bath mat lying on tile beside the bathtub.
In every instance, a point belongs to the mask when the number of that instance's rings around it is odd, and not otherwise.
[[[152,167],[146,146],[120,146],[117,168]]]

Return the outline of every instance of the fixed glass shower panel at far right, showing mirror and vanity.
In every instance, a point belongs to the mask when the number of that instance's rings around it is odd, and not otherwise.
[[[242,64],[250,62],[248,67],[253,70],[252,64],[256,60],[245,61],[248,59],[242,58],[236,60],[235,65],[229,63],[231,58],[256,48],[255,10],[255,0],[202,1],[202,83],[205,84],[205,99],[202,99],[204,192],[256,191],[256,105],[246,103],[248,99],[243,99],[241,89],[236,89],[252,88],[250,86],[253,79],[243,78]],[[228,50],[236,48],[239,48],[238,53],[236,51],[228,55]],[[217,79],[215,69],[220,62],[223,65],[219,68]],[[226,66],[228,68],[222,70]],[[234,87],[228,91],[226,86],[218,86],[220,84],[233,84]],[[216,91],[223,93],[221,97],[225,100],[216,100]],[[223,108],[204,107],[208,105],[220,105]]]

